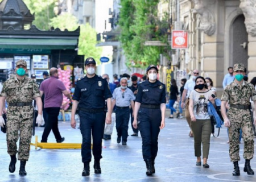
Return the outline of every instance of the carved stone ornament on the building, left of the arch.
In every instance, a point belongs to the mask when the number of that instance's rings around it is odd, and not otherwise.
[[[192,0],[195,3],[194,11],[199,15],[199,29],[211,36],[216,31],[215,18],[209,10],[209,6],[214,5],[216,0]]]

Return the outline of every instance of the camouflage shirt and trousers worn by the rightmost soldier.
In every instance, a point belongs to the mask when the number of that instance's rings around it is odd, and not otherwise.
[[[229,101],[230,105],[250,105],[251,100],[256,100],[254,86],[246,81],[242,85],[232,82],[223,91],[221,100]],[[229,156],[232,162],[240,161],[239,135],[242,129],[244,149],[243,158],[252,159],[254,155],[253,127],[251,123],[250,110],[230,107],[228,111],[230,121],[229,128]]]

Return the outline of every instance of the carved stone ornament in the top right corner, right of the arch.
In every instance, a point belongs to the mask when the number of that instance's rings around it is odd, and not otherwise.
[[[256,36],[256,0],[240,0],[240,8],[245,15],[247,33]]]

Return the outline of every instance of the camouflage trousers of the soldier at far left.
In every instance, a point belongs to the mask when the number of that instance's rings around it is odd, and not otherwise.
[[[8,115],[7,115],[8,118]],[[18,152],[18,160],[28,160],[30,156],[30,143],[32,138],[32,122],[33,119],[23,119],[20,122],[12,122],[7,120],[6,124],[6,140],[7,152],[9,155],[16,155]],[[19,139],[19,151],[17,145]]]

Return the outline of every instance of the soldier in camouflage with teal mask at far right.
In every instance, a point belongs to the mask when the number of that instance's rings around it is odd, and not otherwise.
[[[254,175],[254,171],[250,167],[250,159],[254,155],[253,140],[253,123],[251,123],[250,115],[250,98],[256,104],[256,91],[254,86],[243,80],[245,75],[245,66],[243,64],[235,64],[235,79],[226,86],[221,97],[221,113],[224,118],[224,125],[229,127],[229,156],[231,162],[234,163],[233,176],[240,176],[238,161],[239,156],[239,135],[242,129],[244,150],[243,158],[245,158],[245,167],[243,171],[248,175]],[[229,102],[230,109],[226,114],[225,105]],[[254,119],[254,125],[256,119]]]

